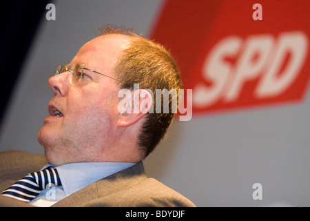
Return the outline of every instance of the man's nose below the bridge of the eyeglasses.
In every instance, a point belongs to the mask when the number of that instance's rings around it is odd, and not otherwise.
[[[69,72],[54,75],[48,79],[48,85],[53,90],[55,95],[66,96],[68,93],[68,76]]]

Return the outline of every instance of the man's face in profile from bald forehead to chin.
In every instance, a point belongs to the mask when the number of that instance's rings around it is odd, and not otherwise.
[[[82,62],[85,68],[114,77],[112,67],[127,42],[123,35],[97,37],[85,44],[70,64]],[[83,73],[85,77],[76,85],[70,84],[69,72],[48,81],[54,96],[38,140],[48,162],[56,166],[100,161],[117,140],[117,81],[90,70]]]

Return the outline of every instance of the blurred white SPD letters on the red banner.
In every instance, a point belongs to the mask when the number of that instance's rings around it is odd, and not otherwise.
[[[254,79],[260,79],[250,92],[256,99],[284,93],[298,76],[307,58],[307,48],[307,35],[300,31],[282,32],[278,38],[270,34],[247,39],[225,37],[205,59],[203,78],[211,84],[196,84],[193,106],[205,108],[218,101],[236,102],[245,83]],[[225,60],[227,57],[236,59],[235,64]]]

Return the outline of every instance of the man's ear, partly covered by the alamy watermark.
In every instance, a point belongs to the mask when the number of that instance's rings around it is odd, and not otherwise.
[[[130,126],[138,122],[153,106],[153,97],[147,90],[134,90],[128,97],[126,97],[125,103],[121,101],[118,104],[117,126]]]

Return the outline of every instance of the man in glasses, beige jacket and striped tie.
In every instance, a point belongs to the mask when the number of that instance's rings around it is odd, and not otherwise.
[[[178,99],[169,97],[169,113],[162,100],[156,110],[156,89],[181,86],[163,46],[106,26],[48,83],[54,96],[38,133],[47,162],[20,151],[1,153],[0,188],[8,188],[0,197],[3,206],[194,206],[148,178],[141,162],[165,135],[174,117],[172,101]],[[42,168],[48,170],[22,180],[43,179],[33,183],[37,190],[28,186],[28,193],[20,193],[21,181],[9,187]],[[48,174],[48,181],[40,174]]]

